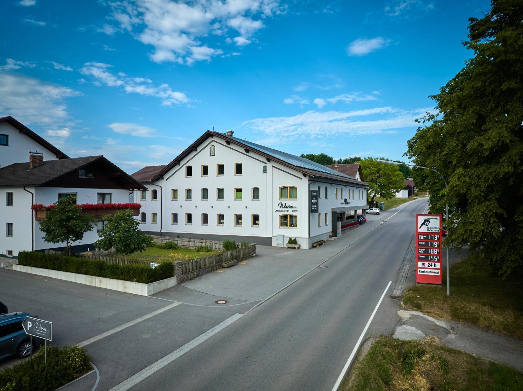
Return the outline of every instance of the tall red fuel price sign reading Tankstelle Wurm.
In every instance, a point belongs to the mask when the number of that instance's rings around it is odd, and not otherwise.
[[[416,282],[441,285],[441,215],[416,215]]]

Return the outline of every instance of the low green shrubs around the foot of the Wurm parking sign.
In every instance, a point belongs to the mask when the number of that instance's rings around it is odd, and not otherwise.
[[[51,391],[92,369],[84,348],[48,346],[46,365],[41,347],[32,359],[0,373],[0,391]]]

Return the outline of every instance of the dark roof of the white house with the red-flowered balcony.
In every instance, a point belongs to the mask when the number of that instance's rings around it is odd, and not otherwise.
[[[129,183],[129,189],[145,189],[137,180],[109,162],[104,156],[74,157],[60,160],[44,160],[36,167],[29,168],[27,163],[13,163],[0,168],[0,186],[44,186],[52,180],[69,174],[88,164],[103,161],[118,172],[118,177]]]

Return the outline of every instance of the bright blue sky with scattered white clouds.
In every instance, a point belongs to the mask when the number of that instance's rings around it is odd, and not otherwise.
[[[484,0],[4,0],[0,116],[128,172],[205,130],[404,159]]]

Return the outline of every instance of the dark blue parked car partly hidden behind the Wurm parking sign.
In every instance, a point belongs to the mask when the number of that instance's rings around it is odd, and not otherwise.
[[[31,338],[22,327],[26,316],[31,315],[26,312],[0,314],[0,359],[10,355],[24,359],[31,354]],[[32,340],[34,350],[42,340],[37,337],[32,337]]]

